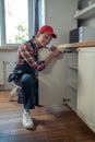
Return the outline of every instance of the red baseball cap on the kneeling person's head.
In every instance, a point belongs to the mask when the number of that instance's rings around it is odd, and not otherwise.
[[[54,33],[54,28],[49,25],[44,25],[38,29],[38,33],[46,33],[52,35],[54,38],[57,38],[57,35]]]

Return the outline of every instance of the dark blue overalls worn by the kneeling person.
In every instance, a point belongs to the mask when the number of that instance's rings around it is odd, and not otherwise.
[[[28,42],[33,48],[36,47],[33,40]],[[38,61],[37,52],[35,52],[34,59],[35,61]],[[10,79],[19,86],[17,102],[24,105],[24,109],[35,108],[35,105],[38,105],[38,79],[36,69],[33,69],[26,61],[24,61],[22,66],[15,67]]]

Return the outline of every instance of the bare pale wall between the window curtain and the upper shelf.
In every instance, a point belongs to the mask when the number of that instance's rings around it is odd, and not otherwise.
[[[76,27],[73,19],[78,0],[45,0],[45,23],[54,26],[58,39],[54,44],[69,43],[69,31]]]

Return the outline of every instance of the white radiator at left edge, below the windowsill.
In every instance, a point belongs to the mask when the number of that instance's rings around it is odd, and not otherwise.
[[[4,61],[0,61],[0,85],[4,85]]]

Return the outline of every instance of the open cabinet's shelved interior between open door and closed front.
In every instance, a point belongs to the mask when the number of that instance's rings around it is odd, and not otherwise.
[[[78,99],[78,51],[67,54],[66,96],[63,102],[76,111]]]

